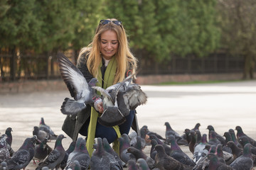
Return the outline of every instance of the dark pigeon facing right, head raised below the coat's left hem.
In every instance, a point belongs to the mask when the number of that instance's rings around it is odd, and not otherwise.
[[[49,169],[58,169],[65,157],[65,149],[62,145],[62,140],[64,138],[66,138],[64,135],[58,135],[53,151],[50,152],[46,159],[38,165],[36,170],[42,169],[43,166],[47,166]]]

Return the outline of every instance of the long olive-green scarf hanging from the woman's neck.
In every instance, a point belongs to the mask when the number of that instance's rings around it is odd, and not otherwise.
[[[97,79],[99,81],[99,83],[97,83],[97,86],[102,86],[102,72],[101,72],[101,68],[102,67],[102,63],[100,64],[99,67],[99,74],[97,76]],[[107,69],[104,75],[104,89],[107,89],[107,87],[112,86],[114,83],[114,76],[115,73],[117,71],[117,60],[115,57],[112,57],[112,59],[110,60],[110,63],[107,65]],[[95,108],[91,109],[91,115],[90,115],[90,124],[88,126],[88,132],[87,132],[87,142],[86,142],[86,147],[87,150],[90,154],[90,157],[92,157],[92,152],[93,152],[93,144],[95,143],[95,131],[96,131],[96,124],[97,124],[97,118],[99,117],[99,113],[97,113],[97,111],[95,111]],[[121,133],[119,131],[119,126],[113,126],[115,132],[117,132],[117,139],[119,137],[121,137]],[[119,154],[119,141],[118,140],[114,140],[113,143],[113,149],[115,152],[117,152],[117,154]]]

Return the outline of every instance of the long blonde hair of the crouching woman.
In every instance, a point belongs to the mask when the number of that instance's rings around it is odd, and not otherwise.
[[[107,20],[116,21],[114,18]],[[80,50],[78,60],[83,53],[88,52],[87,68],[93,77],[97,77],[100,62],[102,62],[102,57],[100,55],[100,35],[106,30],[114,30],[114,32],[117,33],[118,50],[117,54],[115,54],[117,71],[114,77],[114,84],[116,84],[124,79],[127,69],[132,69],[132,73],[135,73],[135,70],[137,69],[137,58],[135,58],[129,50],[129,43],[123,26],[117,26],[112,22],[97,26],[92,42],[90,45],[83,47],[82,50]],[[132,65],[132,68],[129,68],[130,65]]]

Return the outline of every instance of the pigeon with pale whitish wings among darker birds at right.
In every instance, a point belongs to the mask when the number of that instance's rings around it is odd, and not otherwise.
[[[207,142],[207,135],[203,134],[202,140],[198,145],[196,145],[194,152],[193,152],[193,161],[198,162],[202,157],[205,157],[208,154],[208,150],[205,149]]]

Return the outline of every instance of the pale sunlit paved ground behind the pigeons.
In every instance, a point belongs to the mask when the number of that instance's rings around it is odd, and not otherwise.
[[[146,105],[137,108],[139,127],[147,125],[149,130],[164,136],[166,121],[179,134],[196,123],[201,123],[202,133],[208,133],[207,126],[213,125],[219,134],[240,125],[247,135],[256,139],[256,81],[142,86],[142,89],[149,98]],[[63,133],[65,115],[60,113],[60,105],[69,96],[68,90],[0,95],[0,132],[13,128],[14,151],[26,137],[31,137],[33,126],[39,125],[41,117],[56,134]],[[63,140],[65,149],[70,142],[70,138]],[[191,155],[188,148],[182,149]],[[27,169],[36,166],[31,163]]]

